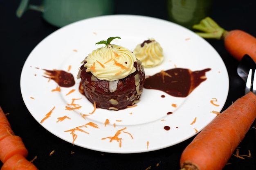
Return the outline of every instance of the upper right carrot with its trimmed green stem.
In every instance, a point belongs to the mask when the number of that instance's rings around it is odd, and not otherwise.
[[[256,61],[256,37],[241,30],[226,31],[221,28],[210,17],[206,17],[199,24],[193,25],[193,28],[202,33],[197,33],[203,38],[214,38],[224,40],[226,50],[238,61],[245,54]]]

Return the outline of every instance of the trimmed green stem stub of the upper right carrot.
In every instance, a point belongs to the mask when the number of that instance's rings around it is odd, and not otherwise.
[[[225,32],[225,29],[221,28],[210,17],[202,19],[199,24],[193,25],[192,28],[201,31],[196,32],[196,34],[203,38],[221,39]]]

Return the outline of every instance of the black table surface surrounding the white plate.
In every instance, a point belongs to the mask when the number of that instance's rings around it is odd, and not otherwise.
[[[8,119],[13,131],[22,137],[29,150],[27,159],[31,160],[37,156],[33,163],[40,170],[145,170],[148,167],[157,170],[180,169],[180,155],[193,137],[175,146],[148,153],[101,153],[73,146],[52,135],[34,120],[22,100],[20,73],[31,50],[58,28],[45,22],[41,13],[37,11],[28,11],[18,19],[15,13],[19,2],[20,0],[0,0],[0,106],[5,113],[10,113]],[[40,0],[30,2],[40,4]],[[167,19],[166,0],[117,2],[116,14],[147,15]],[[210,17],[226,30],[241,29],[256,37],[255,7],[256,1],[252,0],[215,0]],[[220,54],[229,74],[230,88],[224,110],[243,96],[245,82],[236,73],[238,61],[225,50],[223,41],[207,41]],[[255,126],[252,126],[238,146],[241,155],[248,155],[250,150],[252,157],[240,159],[231,156],[224,170],[255,170],[255,144]],[[49,156],[52,150],[55,150],[55,153]]]

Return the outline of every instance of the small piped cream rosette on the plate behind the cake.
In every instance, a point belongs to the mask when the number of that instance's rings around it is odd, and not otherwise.
[[[138,44],[133,50],[135,57],[142,62],[144,68],[152,68],[160,65],[164,60],[163,48],[151,38]]]

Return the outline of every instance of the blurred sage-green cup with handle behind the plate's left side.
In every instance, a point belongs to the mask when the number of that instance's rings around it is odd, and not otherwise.
[[[28,9],[40,11],[44,20],[62,27],[85,18],[113,14],[114,5],[114,0],[43,0],[37,6],[29,4],[29,0],[21,0],[16,15],[21,17]]]

